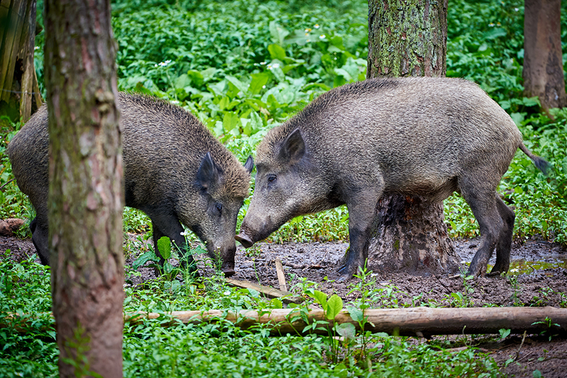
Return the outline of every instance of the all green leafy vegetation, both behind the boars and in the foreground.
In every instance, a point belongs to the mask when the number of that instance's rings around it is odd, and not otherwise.
[[[567,51],[565,2],[562,9],[561,39]],[[256,145],[270,128],[300,111],[314,97],[364,79],[367,14],[368,5],[361,0],[113,1],[119,88],[155,95],[187,108],[244,162],[248,155],[254,155]],[[41,15],[38,22],[43,22]],[[43,39],[41,32],[35,55],[40,82]],[[567,62],[567,54],[563,61]],[[567,243],[567,112],[552,111],[555,120],[550,120],[536,98],[523,97],[522,64],[522,1],[449,0],[447,76],[480,84],[510,113],[528,148],[554,167],[546,177],[521,152],[514,158],[499,191],[516,211],[515,236],[536,235]],[[0,186],[12,178],[4,152],[21,127],[3,121]],[[241,218],[247,206],[248,201]],[[15,182],[0,191],[0,218],[9,217],[33,217],[27,198]],[[458,196],[445,201],[445,218],[452,236],[478,234],[469,207]],[[348,213],[340,207],[295,218],[271,238],[348,240],[347,222]],[[140,211],[127,209],[124,231],[149,231],[149,220]],[[1,265],[1,321],[8,321],[9,312],[37,316],[50,311],[48,270],[30,261]],[[153,285],[147,291],[127,287],[125,311],[165,313],[281,305],[265,303],[253,291],[225,287],[214,277],[183,287],[162,282]],[[313,287],[304,283],[298,290],[313,292]],[[378,298],[383,293],[375,294]],[[358,303],[358,307],[366,304]],[[17,332],[15,325],[0,329],[0,375],[56,375],[55,333],[44,330],[46,324],[50,319],[39,316],[28,334]],[[427,345],[411,346],[405,339],[381,335],[375,339],[369,360],[361,357],[360,347],[343,346],[344,359],[337,361],[328,354],[333,343],[331,338],[315,336],[270,339],[266,332],[252,334],[222,324],[165,329],[160,321],[154,321],[125,330],[124,372],[128,377],[346,377],[346,367],[357,377],[402,373],[430,377],[456,372],[473,377],[496,376],[497,372],[493,361],[478,359],[472,350],[443,354]],[[371,368],[368,361],[380,361],[381,367]]]

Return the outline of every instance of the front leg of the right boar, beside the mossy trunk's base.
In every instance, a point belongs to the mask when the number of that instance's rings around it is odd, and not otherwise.
[[[339,281],[351,278],[366,263],[376,203],[381,194],[382,191],[377,192],[375,189],[360,190],[346,202],[350,247],[346,263],[339,269]]]

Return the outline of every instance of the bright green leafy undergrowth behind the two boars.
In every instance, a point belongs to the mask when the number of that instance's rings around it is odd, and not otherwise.
[[[117,0],[112,6],[120,89],[192,111],[241,162],[254,157],[269,129],[314,97],[366,74],[366,1]],[[566,19],[561,19],[564,44]],[[537,99],[522,95],[522,20],[518,0],[451,1],[447,76],[480,84],[517,122],[528,147],[552,164],[553,171],[543,176],[518,152],[505,174],[499,193],[517,213],[514,235],[565,244],[567,120],[564,112],[555,112],[550,120],[540,113]],[[43,22],[41,15],[38,22]],[[41,32],[38,46],[43,39]],[[35,59],[43,85],[41,48]],[[0,186],[12,178],[4,152],[21,126],[1,125]],[[249,201],[239,213],[239,225]],[[0,205],[1,218],[33,217],[15,182],[0,190]],[[470,207],[457,195],[445,201],[445,220],[451,236],[478,235]],[[127,208],[124,231],[148,233],[151,222],[141,211]],[[339,207],[294,218],[269,240],[348,240],[348,211]]]

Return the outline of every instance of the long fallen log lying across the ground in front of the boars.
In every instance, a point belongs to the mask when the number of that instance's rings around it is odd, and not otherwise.
[[[386,332],[400,336],[431,336],[436,334],[498,334],[501,329],[510,329],[513,334],[523,332],[539,333],[551,330],[553,334],[567,335],[567,309],[543,308],[395,308],[366,310],[367,323],[365,330]],[[140,321],[143,318],[156,319],[160,314],[138,313],[127,316],[124,320]],[[242,311],[238,314],[223,310],[210,311],[177,311],[172,312],[171,323],[201,323],[225,319],[240,328],[251,329],[259,325],[270,328],[273,335],[304,334],[305,323],[297,309],[271,310],[257,312]],[[550,321],[546,320],[550,319]],[[310,310],[309,323],[313,321],[326,324],[323,310]],[[336,323],[352,323],[357,330],[360,326],[353,321],[346,311],[337,314]],[[549,327],[551,324],[551,328]],[[557,325],[555,325],[557,324]],[[327,334],[328,330],[319,329],[315,333]]]

